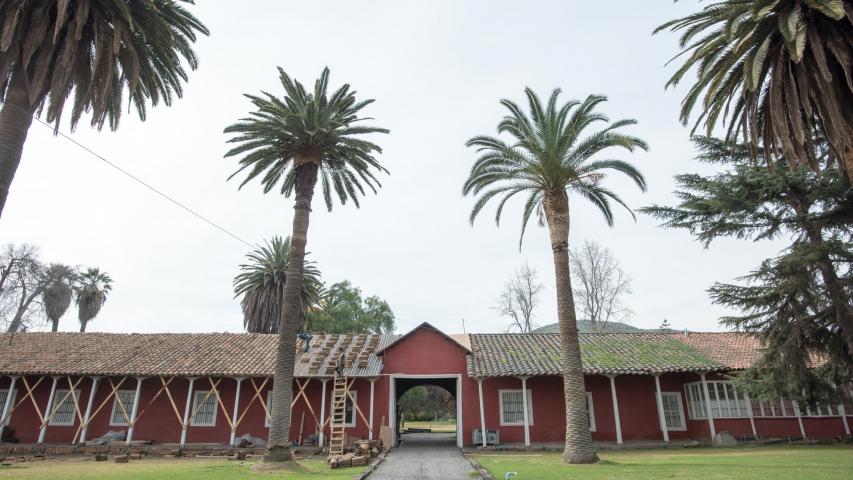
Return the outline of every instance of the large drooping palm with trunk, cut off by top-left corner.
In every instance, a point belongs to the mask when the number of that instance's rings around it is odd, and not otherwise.
[[[71,101],[71,127],[84,112],[92,126],[118,128],[129,103],[171,105],[193,70],[191,48],[207,28],[182,3],[191,0],[0,2],[0,215],[34,114],[59,128]]]

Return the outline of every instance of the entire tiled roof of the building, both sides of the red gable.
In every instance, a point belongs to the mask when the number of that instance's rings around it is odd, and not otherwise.
[[[432,328],[432,327],[430,327]],[[382,373],[383,349],[398,335],[316,335],[294,375],[329,377],[338,359],[347,375]],[[559,375],[559,334],[448,336],[471,353],[473,377]],[[272,376],[276,335],[235,333],[0,334],[0,374]],[[722,371],[748,367],[758,340],[739,333],[582,333],[588,374]]]

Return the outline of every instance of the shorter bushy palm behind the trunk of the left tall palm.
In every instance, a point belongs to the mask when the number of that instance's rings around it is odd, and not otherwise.
[[[249,263],[240,265],[241,272],[234,278],[234,296],[243,297],[240,302],[243,327],[252,333],[278,333],[284,307],[290,237],[283,240],[273,237],[246,256]],[[302,282],[301,323],[304,323],[307,310],[317,305],[323,295],[320,270],[314,262],[303,262]]]

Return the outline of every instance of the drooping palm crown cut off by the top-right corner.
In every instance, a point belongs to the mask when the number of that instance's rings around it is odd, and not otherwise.
[[[665,29],[683,32],[685,59],[667,86],[697,72],[682,122],[701,99],[694,131],[704,123],[711,136],[724,120],[727,139],[761,145],[768,166],[784,156],[815,172],[820,132],[853,180],[853,1],[723,0],[655,33]]]

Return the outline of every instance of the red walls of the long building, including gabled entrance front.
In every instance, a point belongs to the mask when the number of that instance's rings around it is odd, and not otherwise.
[[[382,375],[375,381],[375,399],[373,415],[374,438],[378,437],[380,425],[389,423],[389,395],[390,375],[450,375],[460,374],[461,391],[457,393],[457,402],[462,403],[462,438],[465,445],[472,443],[472,433],[475,428],[480,428],[480,409],[477,382],[467,376],[466,366],[467,351],[456,342],[448,339],[442,334],[429,328],[417,330],[402,339],[399,343],[391,346],[384,352],[384,370]],[[709,379],[717,378],[709,376]],[[28,378],[32,386],[37,377]],[[119,378],[113,378],[118,382]],[[661,389],[664,392],[679,392],[682,398],[684,417],[687,419],[687,430],[682,432],[669,432],[673,442],[687,439],[707,440],[710,429],[707,420],[690,420],[687,414],[687,399],[684,395],[684,383],[699,380],[695,373],[673,373],[664,374],[660,377]],[[72,379],[76,382],[76,379]],[[214,381],[216,381],[214,379]],[[263,379],[255,379],[258,386]],[[596,441],[614,442],[616,440],[615,422],[613,416],[612,397],[610,393],[610,382],[607,377],[591,375],[585,377],[586,390],[592,393],[593,408],[595,414],[596,430],[592,437]],[[50,392],[52,379],[45,379],[35,389],[36,402],[40,409],[44,409],[48,394]],[[183,416],[187,395],[188,380],[177,378],[170,384],[172,397],[177,406],[178,413]],[[615,378],[616,391],[619,402],[621,417],[622,436],[625,441],[632,440],[662,440],[663,436],[659,427],[657,416],[657,403],[655,396],[654,377],[649,375],[620,375]],[[8,388],[9,378],[0,378],[0,388]],[[530,427],[531,440],[533,442],[563,442],[564,441],[564,418],[565,409],[563,405],[562,378],[558,376],[533,377],[527,381],[528,388],[532,391],[533,398],[533,423]],[[218,384],[222,402],[226,412],[221,407],[217,408],[217,419],[214,427],[190,426],[187,433],[189,443],[227,443],[230,439],[230,427],[228,419],[234,405],[235,396],[234,379],[225,378]],[[142,395],[140,397],[141,417],[137,422],[134,439],[151,440],[157,443],[177,443],[181,436],[180,420],[176,417],[171,403],[165,392],[154,399],[161,383],[159,378],[144,380]],[[266,401],[267,392],[272,387],[272,381],[268,381],[261,390],[261,398]],[[59,389],[68,388],[67,379],[61,378]],[[77,386],[81,390],[80,409],[85,411],[91,388],[91,379],[84,378]],[[136,380],[129,378],[121,389],[134,390]],[[524,442],[523,426],[500,426],[499,412],[499,390],[520,389],[521,380],[514,377],[488,378],[483,381],[484,416],[487,429],[498,429],[502,443],[520,444]],[[196,380],[194,390],[208,390],[210,383],[207,378]],[[19,380],[16,384],[17,398],[19,402],[26,395],[23,382]],[[109,379],[101,379],[93,411],[97,409],[110,392]],[[370,415],[370,382],[367,379],[357,379],[353,384],[353,390],[357,393],[357,403],[365,418]],[[294,396],[299,387],[294,383]],[[312,379],[306,387],[306,394],[311,402],[314,414],[320,415],[320,394],[322,382]],[[258,399],[253,400],[255,394],[249,379],[242,382],[240,391],[240,415],[249,406],[248,412],[237,428],[237,436],[244,433],[266,438],[268,428],[265,426],[265,415]],[[330,414],[332,395],[332,382],[327,383],[326,388],[326,416]],[[153,402],[152,402],[153,400]],[[109,417],[112,411],[113,400],[108,400],[100,412],[90,422],[87,439],[103,435],[109,430],[125,430],[124,426],[110,426]],[[2,408],[2,406],[0,406]],[[305,415],[302,428],[303,435],[311,435],[316,431],[314,417],[311,415],[304,398],[300,398],[293,407],[291,416],[291,440],[299,438],[299,425],[302,415]],[[853,417],[848,417],[853,424]],[[751,435],[752,427],[749,419],[715,419],[716,431],[728,431],[733,435]],[[803,417],[803,424],[809,438],[832,438],[844,435],[844,427],[839,417],[810,418]],[[800,429],[796,418],[755,418],[755,425],[759,436],[784,437],[799,436]],[[60,427],[48,426],[45,441],[48,443],[69,443],[74,438],[79,426],[79,420],[75,419],[74,426]],[[39,421],[38,415],[33,408],[32,402],[27,399],[21,403],[11,416],[11,428],[15,430],[16,437],[23,443],[33,443],[38,438]],[[328,427],[326,435],[328,435]],[[362,417],[356,414],[356,426],[347,429],[350,440],[367,438],[369,428]]]

